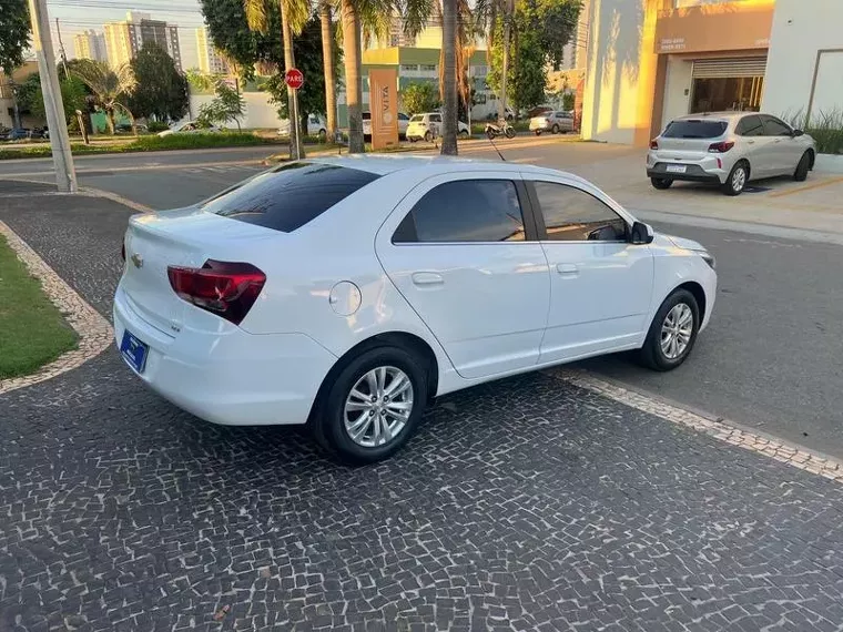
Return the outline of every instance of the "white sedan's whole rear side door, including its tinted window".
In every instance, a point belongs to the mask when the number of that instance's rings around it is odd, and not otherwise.
[[[550,275],[526,195],[517,172],[431,177],[376,237],[386,274],[465,378],[538,361]]]

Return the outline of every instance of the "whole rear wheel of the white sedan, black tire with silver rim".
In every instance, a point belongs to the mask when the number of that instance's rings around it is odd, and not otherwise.
[[[373,374],[378,387],[374,394],[369,386]],[[399,386],[402,390],[397,399],[392,400],[394,408],[390,408],[389,396],[384,391],[406,383],[409,386]],[[372,395],[378,399],[366,398]],[[374,463],[389,458],[409,440],[426,407],[425,363],[403,347],[375,347],[353,358],[333,376],[324,397],[317,402],[313,430],[317,441],[342,461]],[[406,416],[404,411],[407,411]],[[384,430],[390,426],[398,430],[386,440]],[[358,435],[353,435],[355,428]]]

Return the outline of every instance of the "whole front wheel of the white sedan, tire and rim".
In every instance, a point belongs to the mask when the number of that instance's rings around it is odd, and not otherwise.
[[[641,363],[658,371],[677,368],[690,355],[699,329],[697,299],[687,289],[677,289],[664,299],[650,324],[640,350]]]

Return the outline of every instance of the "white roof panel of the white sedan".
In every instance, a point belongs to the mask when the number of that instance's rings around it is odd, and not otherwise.
[[[466,159],[459,156],[352,154],[344,156],[306,159],[306,162],[357,169],[377,175],[387,175],[389,173],[409,169],[426,169],[430,175],[436,175],[438,173],[454,173],[455,171],[471,172],[477,171],[479,167],[483,171],[500,171],[501,173],[532,173],[553,175],[557,177],[561,175],[579,182],[587,182],[578,175],[555,169],[499,160]]]

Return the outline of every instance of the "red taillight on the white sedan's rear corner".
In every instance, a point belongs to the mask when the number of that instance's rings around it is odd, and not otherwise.
[[[240,325],[257,300],[266,275],[246,263],[209,259],[202,267],[167,266],[173,290],[187,303]]]

